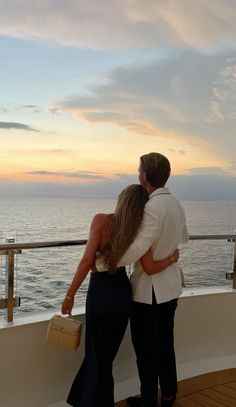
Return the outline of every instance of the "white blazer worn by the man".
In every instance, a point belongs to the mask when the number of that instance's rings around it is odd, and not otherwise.
[[[146,203],[144,217],[138,235],[119,265],[134,263],[131,267],[133,300],[145,304],[152,303],[152,288],[158,304],[178,298],[182,293],[180,268],[172,264],[160,273],[148,276],[138,259],[149,248],[155,260],[170,256],[179,243],[189,239],[185,213],[180,202],[168,188],[158,188]]]

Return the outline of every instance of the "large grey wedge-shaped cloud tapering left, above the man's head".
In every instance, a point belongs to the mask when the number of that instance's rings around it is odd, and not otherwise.
[[[107,123],[145,136],[236,148],[236,51],[214,55],[176,51],[161,61],[116,68],[86,95],[55,103],[90,123]],[[220,120],[220,123],[219,123]],[[194,139],[194,140],[193,140]],[[185,149],[181,148],[182,153]]]

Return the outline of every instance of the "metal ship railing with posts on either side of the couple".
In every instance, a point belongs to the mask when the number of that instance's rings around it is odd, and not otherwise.
[[[226,240],[233,243],[233,270],[226,273],[232,280],[232,288],[236,289],[236,234],[190,235],[190,240]],[[0,309],[5,310],[5,320],[13,322],[14,307],[20,306],[20,298],[14,296],[15,259],[22,250],[42,249],[65,246],[82,246],[87,240],[62,240],[33,243],[16,243],[14,239],[6,239],[0,244],[0,255],[6,256],[5,262],[5,298],[0,298]]]

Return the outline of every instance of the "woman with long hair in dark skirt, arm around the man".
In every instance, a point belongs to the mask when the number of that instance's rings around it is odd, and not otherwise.
[[[119,195],[114,214],[94,216],[84,255],[62,304],[70,314],[74,296],[91,273],[86,300],[85,359],[67,402],[74,407],[113,407],[112,363],[123,339],[131,306],[131,286],[119,260],[133,242],[141,224],[148,193],[130,185]],[[178,260],[172,256],[153,261],[151,251],[141,259],[148,274],[160,272]]]

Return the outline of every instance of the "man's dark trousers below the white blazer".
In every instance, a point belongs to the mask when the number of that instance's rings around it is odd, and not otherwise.
[[[145,407],[157,407],[158,383],[164,396],[177,393],[174,351],[174,316],[177,299],[157,304],[132,303],[131,335],[141,396]]]

